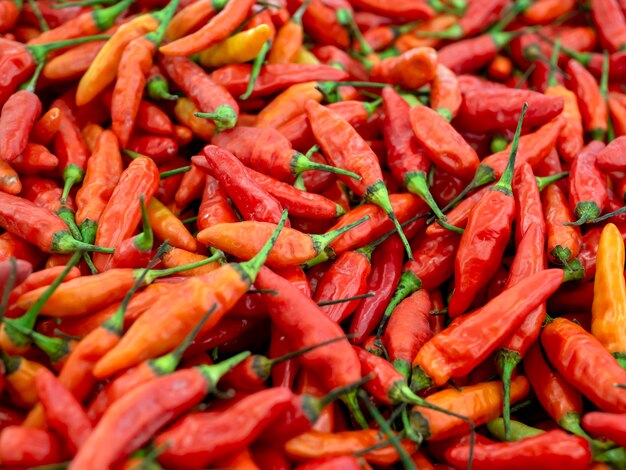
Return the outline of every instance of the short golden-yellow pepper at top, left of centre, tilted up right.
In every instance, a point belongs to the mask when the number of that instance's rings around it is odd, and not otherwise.
[[[272,30],[266,24],[241,31],[202,51],[200,63],[205,67],[221,67],[249,62],[259,55],[271,34]]]

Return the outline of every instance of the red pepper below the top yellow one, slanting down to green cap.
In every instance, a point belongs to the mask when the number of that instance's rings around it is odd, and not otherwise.
[[[239,106],[230,93],[214,82],[198,65],[184,57],[161,57],[160,64],[172,81],[202,112],[198,114],[199,117],[212,119],[220,131],[235,126]]]

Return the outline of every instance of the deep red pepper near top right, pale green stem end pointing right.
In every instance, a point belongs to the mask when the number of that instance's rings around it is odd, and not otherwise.
[[[493,61],[518,34],[497,31],[456,41],[439,49],[437,59],[456,74],[475,72]]]

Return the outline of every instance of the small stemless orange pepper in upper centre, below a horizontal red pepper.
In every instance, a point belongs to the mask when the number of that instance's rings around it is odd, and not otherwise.
[[[305,112],[309,100],[320,103],[324,95],[316,88],[317,82],[292,85],[274,98],[257,116],[255,127],[277,128]]]

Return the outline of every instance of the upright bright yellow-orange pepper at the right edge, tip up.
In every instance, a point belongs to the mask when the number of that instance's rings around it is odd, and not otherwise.
[[[624,241],[619,229],[607,224],[598,246],[591,333],[622,365],[626,364],[625,324]]]

